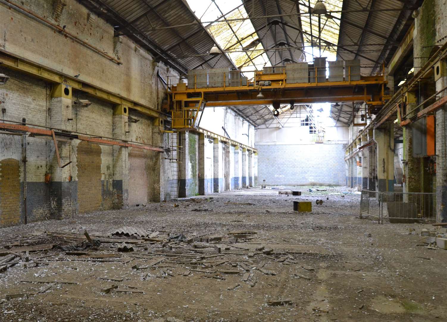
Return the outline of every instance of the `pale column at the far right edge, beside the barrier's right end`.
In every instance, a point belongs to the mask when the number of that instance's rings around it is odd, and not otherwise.
[[[436,91],[447,86],[447,77],[436,81]],[[447,95],[443,91],[440,96]],[[444,105],[435,113],[436,118],[436,221],[447,223],[447,107]]]

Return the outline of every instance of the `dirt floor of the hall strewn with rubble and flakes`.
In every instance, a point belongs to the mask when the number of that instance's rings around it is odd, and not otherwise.
[[[178,207],[173,202],[152,203],[1,228],[0,239],[12,240],[33,232],[76,232],[80,226],[92,236],[108,236],[122,226],[132,226],[159,231],[156,238],[161,239],[168,236],[164,232],[183,233],[188,239],[204,234],[223,236],[232,250],[222,249],[222,256],[204,258],[218,254],[214,245],[227,245],[195,242],[193,249],[178,242],[169,250],[168,245],[162,248],[156,242],[135,248],[135,252],[168,255],[132,258],[132,253],[122,253],[121,262],[55,260],[79,258],[61,249],[30,253],[31,258],[55,256],[41,259],[48,260],[48,266],[29,264],[25,269],[20,261],[0,273],[0,321],[447,321],[447,251],[427,249],[425,237],[408,234],[409,227],[433,226],[379,225],[359,219],[359,195],[346,193],[342,197],[346,188],[312,189],[299,197],[278,195],[278,189],[243,189],[196,197],[202,202],[182,200]],[[294,212],[292,201],[305,199],[312,201],[312,213]],[[323,205],[317,206],[316,199],[323,199]],[[248,235],[257,238],[238,240],[236,246],[228,241],[232,237],[228,232],[235,231],[257,232]],[[269,246],[278,244],[285,246]],[[254,250],[261,245],[265,249]],[[289,253],[287,245],[309,245],[308,249],[314,250],[320,246],[329,254]],[[116,248],[101,247],[93,253],[117,253]],[[273,253],[262,253],[269,249]],[[249,253],[255,254],[249,257]],[[181,255],[186,255],[184,262],[199,264],[179,263]],[[132,268],[135,264],[152,265],[161,258],[166,259],[152,269]],[[246,282],[244,265],[250,273]],[[190,274],[184,276],[188,270]],[[239,274],[225,273],[228,270]],[[211,276],[214,278],[207,278]],[[144,293],[101,292],[112,285]],[[25,292],[38,294],[1,300],[7,294]],[[272,300],[290,300],[292,304],[268,306]]]

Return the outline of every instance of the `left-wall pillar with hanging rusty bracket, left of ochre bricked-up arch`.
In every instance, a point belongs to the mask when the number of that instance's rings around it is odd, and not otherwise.
[[[72,88],[59,84],[51,92],[50,126],[71,132],[72,124]],[[71,142],[57,141],[57,146],[62,165],[70,160],[76,161]],[[54,146],[51,151],[54,153],[50,165],[51,216],[57,219],[68,218],[77,212],[77,178],[72,176],[72,172],[76,172],[76,162],[60,168]]]

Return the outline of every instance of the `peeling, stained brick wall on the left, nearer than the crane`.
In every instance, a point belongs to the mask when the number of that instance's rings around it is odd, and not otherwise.
[[[25,0],[20,5],[53,23],[66,26],[65,30],[93,46],[113,53],[122,64],[111,62],[3,3],[0,4],[0,50],[63,75],[77,75],[83,82],[159,109],[165,88],[157,78],[157,72],[166,79],[167,75],[174,74],[173,71],[156,63],[148,52],[127,37],[115,39],[114,27],[89,13],[78,1],[66,0],[66,3],[62,13],[56,16],[52,0]],[[112,104],[76,89],[72,89],[71,100],[53,97],[51,93],[57,84],[2,67],[0,73],[11,77],[0,86],[0,107],[4,109],[0,115],[2,121],[25,122],[157,146],[169,144],[168,134],[160,132],[164,125],[155,126],[151,117],[131,110],[129,116],[138,120],[135,123],[127,116],[114,115]],[[76,107],[72,104],[76,99],[87,99],[92,104]],[[0,226],[25,223],[25,220],[69,218],[78,212],[128,204],[128,148],[100,146],[77,139],[58,140],[57,145],[62,163],[71,162],[67,167],[59,168],[50,137],[0,133],[0,161],[11,159],[18,164],[18,170],[10,172],[12,181],[8,174],[4,190],[0,190]],[[148,199],[163,200],[170,180],[169,163],[163,159],[166,155],[152,151],[145,155]],[[9,190],[17,188],[17,182],[19,194],[15,195],[16,199],[10,199]],[[7,200],[14,200],[11,209],[18,219],[10,219]]]

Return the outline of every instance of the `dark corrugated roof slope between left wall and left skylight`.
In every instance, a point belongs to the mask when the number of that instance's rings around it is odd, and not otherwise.
[[[145,43],[138,39],[143,38],[143,34],[159,47],[159,51],[166,53],[169,60],[175,60],[180,66],[184,66],[183,69],[233,66],[226,55],[207,55],[215,41],[198,23],[184,0],[79,1],[101,14],[101,17],[109,16],[105,18],[116,26],[116,30],[120,30],[122,34],[135,35],[136,43],[142,46]],[[165,28],[188,23],[195,25]]]

